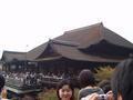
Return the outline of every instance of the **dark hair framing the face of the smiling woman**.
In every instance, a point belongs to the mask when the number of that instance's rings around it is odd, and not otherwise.
[[[69,80],[69,79],[64,79],[64,80],[61,80],[58,86],[57,86],[57,96],[58,96],[58,99],[61,100],[60,96],[59,96],[59,90],[63,87],[68,84],[69,88],[72,90],[72,97],[70,100],[74,100],[74,87],[72,84],[72,82]]]

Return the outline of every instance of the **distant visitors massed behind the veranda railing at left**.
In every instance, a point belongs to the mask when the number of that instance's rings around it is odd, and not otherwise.
[[[41,86],[44,81],[59,81],[63,76],[57,76],[54,73],[37,73],[37,72],[2,72],[7,82],[11,81],[17,86]]]

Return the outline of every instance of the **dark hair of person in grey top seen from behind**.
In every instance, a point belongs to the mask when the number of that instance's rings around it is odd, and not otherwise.
[[[85,88],[88,86],[95,86],[95,78],[93,72],[88,69],[84,69],[79,74],[79,82],[81,88]]]

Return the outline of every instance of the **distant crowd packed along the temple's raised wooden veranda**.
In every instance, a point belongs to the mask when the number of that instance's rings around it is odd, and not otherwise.
[[[70,71],[9,71],[9,72],[0,72],[6,78],[6,82],[9,84],[13,84],[17,87],[32,87],[32,86],[43,86],[45,83],[57,83],[62,79],[71,79],[74,78]]]

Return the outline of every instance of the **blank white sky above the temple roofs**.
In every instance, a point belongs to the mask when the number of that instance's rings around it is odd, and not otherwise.
[[[132,0],[0,0],[0,54],[98,22],[133,42]]]

